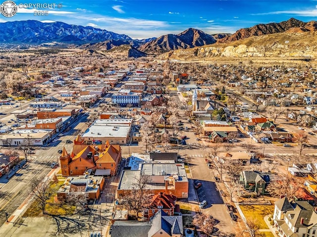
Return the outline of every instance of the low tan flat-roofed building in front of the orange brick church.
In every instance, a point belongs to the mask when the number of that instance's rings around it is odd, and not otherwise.
[[[99,199],[101,191],[105,186],[105,178],[102,176],[82,175],[77,177],[67,177],[64,184],[57,191],[59,201],[67,198],[71,194],[85,194],[87,199]]]

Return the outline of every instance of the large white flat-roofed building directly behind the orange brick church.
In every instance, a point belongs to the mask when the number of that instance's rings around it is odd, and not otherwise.
[[[132,119],[98,119],[81,135],[86,144],[127,144]]]

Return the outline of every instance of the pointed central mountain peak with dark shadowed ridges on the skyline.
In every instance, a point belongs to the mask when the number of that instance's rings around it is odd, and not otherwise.
[[[168,34],[160,36],[156,40],[150,41],[138,49],[147,53],[162,53],[179,48],[191,48],[215,43],[213,36],[193,28],[178,35]]]

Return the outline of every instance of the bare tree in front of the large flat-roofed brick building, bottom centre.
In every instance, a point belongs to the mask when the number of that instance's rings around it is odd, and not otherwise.
[[[139,212],[149,205],[154,194],[148,187],[152,178],[141,171],[140,176],[133,177],[133,180],[130,190],[125,191],[122,195],[123,206],[130,211],[134,211],[138,216]]]

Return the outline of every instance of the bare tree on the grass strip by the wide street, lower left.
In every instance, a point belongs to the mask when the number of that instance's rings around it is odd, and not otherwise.
[[[53,194],[50,183],[50,179],[45,176],[34,177],[31,180],[31,195],[39,204],[43,214],[46,214],[45,206],[50,196]]]

